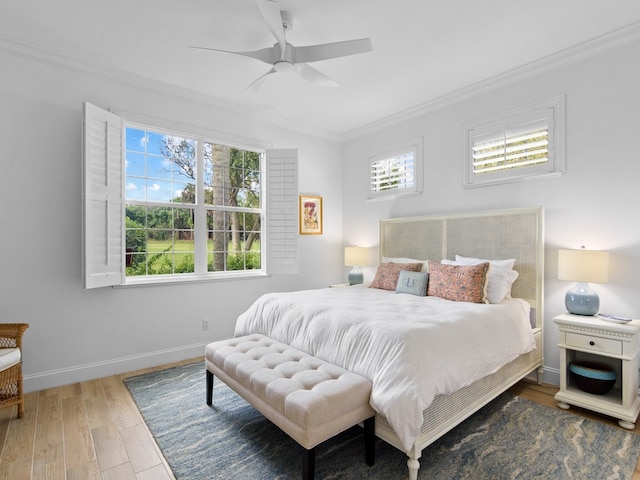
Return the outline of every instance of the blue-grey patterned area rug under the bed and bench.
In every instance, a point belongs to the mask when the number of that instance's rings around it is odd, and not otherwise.
[[[205,403],[204,363],[125,380],[179,480],[299,479],[302,447],[218,379]],[[640,436],[503,394],[420,459],[420,479],[631,479]],[[354,427],[316,449],[316,478],[407,478],[404,453],[378,440],[364,460]]]

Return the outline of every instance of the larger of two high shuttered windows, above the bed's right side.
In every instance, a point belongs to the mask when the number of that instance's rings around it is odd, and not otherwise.
[[[464,186],[560,174],[564,98],[555,97],[465,126]]]

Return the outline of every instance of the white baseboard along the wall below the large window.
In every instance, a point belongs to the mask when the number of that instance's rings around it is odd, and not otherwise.
[[[141,368],[155,367],[166,363],[179,362],[189,358],[203,357],[206,343],[186,345],[167,350],[120,357],[104,362],[88,363],[59,370],[49,370],[24,376],[25,393],[60,387],[77,382],[109,377],[132,372]]]

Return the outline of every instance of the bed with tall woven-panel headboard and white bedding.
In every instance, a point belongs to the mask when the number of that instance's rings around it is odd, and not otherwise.
[[[387,287],[272,293],[238,318],[235,334],[262,333],[369,378],[376,435],[406,452],[415,480],[425,447],[522,378],[541,381],[543,251],[542,208],[381,220],[381,265],[428,260],[435,288],[440,270],[487,279],[515,259],[510,295],[472,303]]]

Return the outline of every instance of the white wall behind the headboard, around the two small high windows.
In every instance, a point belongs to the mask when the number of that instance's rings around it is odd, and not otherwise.
[[[559,381],[558,332],[571,286],[558,281],[558,248],[611,252],[609,283],[594,285],[601,311],[640,318],[640,43],[565,61],[525,79],[485,84],[464,99],[372,129],[345,143],[345,244],[377,246],[378,220],[416,214],[543,206],[545,208],[545,380]],[[566,171],[557,178],[463,189],[465,122],[556,95],[566,96]],[[446,102],[443,102],[443,105]],[[391,122],[389,122],[391,123]],[[366,153],[424,136],[424,192],[367,202]],[[354,136],[355,137],[355,136]],[[377,257],[376,257],[377,258]],[[435,259],[439,260],[439,259]],[[371,280],[375,268],[366,271]]]

